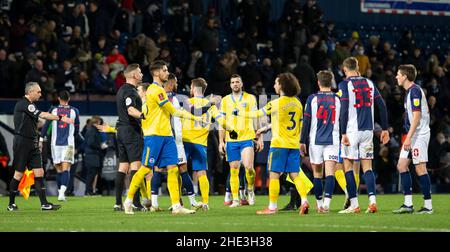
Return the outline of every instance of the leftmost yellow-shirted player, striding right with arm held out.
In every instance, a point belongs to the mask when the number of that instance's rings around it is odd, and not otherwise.
[[[151,172],[151,168],[167,169],[167,187],[172,203],[172,214],[193,214],[180,204],[178,183],[178,154],[175,138],[170,125],[170,116],[178,116],[196,121],[203,121],[201,117],[193,116],[184,110],[177,110],[169,102],[162,84],[167,81],[169,72],[167,63],[155,61],[150,66],[153,83],[147,89],[142,130],[144,133],[144,149],[142,152],[142,166],[131,180],[130,189],[124,202],[125,214],[134,214],[132,199],[144,177]]]

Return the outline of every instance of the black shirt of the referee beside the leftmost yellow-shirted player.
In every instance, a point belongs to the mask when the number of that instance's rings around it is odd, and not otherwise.
[[[120,87],[119,91],[117,91],[116,103],[117,114],[119,116],[116,126],[132,126],[140,130],[141,119],[136,119],[128,115],[128,107],[134,107],[138,111],[141,111],[142,100],[141,97],[139,97],[137,88],[134,85],[125,83]]]

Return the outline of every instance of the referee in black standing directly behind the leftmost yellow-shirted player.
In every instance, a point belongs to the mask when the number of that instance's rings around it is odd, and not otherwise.
[[[122,193],[124,178],[131,169],[131,177],[141,166],[142,148],[144,138],[141,129],[142,100],[137,92],[137,85],[142,81],[142,72],[139,64],[130,64],[124,71],[126,83],[117,91],[117,114],[119,119],[117,128],[117,145],[119,149],[119,170],[116,174],[116,204],[115,211],[122,211]],[[148,201],[148,199],[146,199]],[[134,208],[146,210],[139,202],[139,193],[133,199]],[[148,203],[148,202],[146,202]]]

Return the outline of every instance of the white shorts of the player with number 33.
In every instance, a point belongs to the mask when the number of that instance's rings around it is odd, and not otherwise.
[[[350,146],[342,144],[342,158],[373,159],[373,131],[347,132]]]

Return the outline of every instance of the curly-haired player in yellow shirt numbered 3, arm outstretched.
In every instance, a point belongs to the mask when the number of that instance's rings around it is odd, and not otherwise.
[[[249,118],[271,115],[272,140],[270,143],[268,170],[269,180],[269,206],[257,211],[256,214],[275,214],[278,211],[278,196],[280,193],[280,174],[286,172],[293,180],[295,187],[302,197],[300,214],[307,214],[309,203],[307,200],[307,187],[298,176],[300,170],[300,132],[302,128],[303,106],[296,97],[300,93],[300,84],[291,73],[282,73],[277,76],[274,84],[275,92],[280,95],[278,99],[270,101],[257,111],[236,111],[239,116]]]

